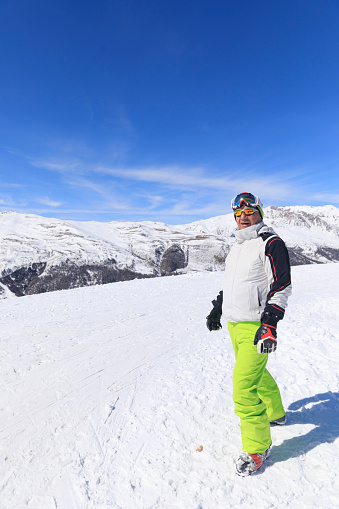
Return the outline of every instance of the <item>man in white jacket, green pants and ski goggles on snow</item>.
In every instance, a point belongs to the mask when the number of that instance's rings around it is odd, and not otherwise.
[[[243,453],[236,471],[247,476],[269,456],[270,424],[285,424],[279,388],[266,369],[277,348],[277,323],[291,294],[289,256],[284,242],[263,222],[260,199],[240,193],[232,200],[236,243],[226,258],[223,292],[207,317],[209,330],[228,321],[235,367],[233,400],[240,417]]]

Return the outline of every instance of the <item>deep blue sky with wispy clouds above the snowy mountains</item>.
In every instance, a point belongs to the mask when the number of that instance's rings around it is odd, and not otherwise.
[[[0,210],[339,206],[338,0],[2,0]]]

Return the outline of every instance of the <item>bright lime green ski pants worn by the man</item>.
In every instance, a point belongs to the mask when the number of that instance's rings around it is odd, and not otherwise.
[[[243,450],[264,452],[271,445],[270,421],[285,414],[279,388],[266,369],[268,354],[254,345],[260,322],[228,323],[234,353],[233,401],[240,417]]]

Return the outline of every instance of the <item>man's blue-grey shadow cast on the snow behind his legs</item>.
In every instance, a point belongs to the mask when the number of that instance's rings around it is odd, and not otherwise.
[[[295,401],[286,412],[286,426],[311,424],[305,435],[284,440],[271,449],[271,461],[279,463],[304,456],[317,445],[332,443],[339,437],[339,392],[324,392]]]

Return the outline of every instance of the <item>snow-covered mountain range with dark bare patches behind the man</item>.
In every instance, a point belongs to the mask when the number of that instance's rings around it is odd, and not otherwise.
[[[268,207],[292,265],[339,261],[339,209]],[[3,294],[43,293],[135,278],[223,270],[232,214],[186,225],[62,221],[0,213]]]

